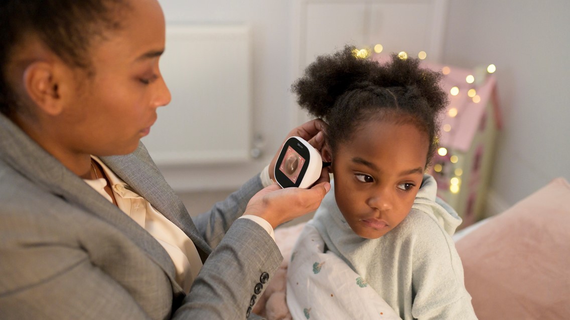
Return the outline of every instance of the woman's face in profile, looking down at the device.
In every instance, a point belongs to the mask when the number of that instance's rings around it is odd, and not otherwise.
[[[94,75],[75,71],[60,124],[59,144],[77,154],[127,154],[136,149],[156,121],[156,109],[170,92],[158,69],[164,51],[165,23],[156,0],[131,1],[121,28],[93,40]]]

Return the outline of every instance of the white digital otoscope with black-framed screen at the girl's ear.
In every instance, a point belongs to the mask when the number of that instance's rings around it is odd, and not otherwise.
[[[291,137],[279,153],[274,175],[282,188],[308,188],[319,179],[322,169],[323,159],[319,151],[303,138]]]

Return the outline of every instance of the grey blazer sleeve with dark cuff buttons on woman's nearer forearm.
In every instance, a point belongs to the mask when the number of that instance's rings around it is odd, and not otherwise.
[[[174,319],[255,318],[251,310],[283,257],[260,225],[239,219],[210,254]]]

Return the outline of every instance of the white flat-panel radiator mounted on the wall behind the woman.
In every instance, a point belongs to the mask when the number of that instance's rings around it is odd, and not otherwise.
[[[250,33],[246,25],[167,26],[160,68],[172,102],[143,139],[158,166],[249,161]]]

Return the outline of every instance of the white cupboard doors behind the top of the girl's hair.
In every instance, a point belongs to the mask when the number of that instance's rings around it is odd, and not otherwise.
[[[447,0],[296,0],[293,25],[293,77],[316,56],[352,44],[359,48],[383,47],[382,54],[406,51],[439,61]],[[298,111],[294,121],[307,120]]]

